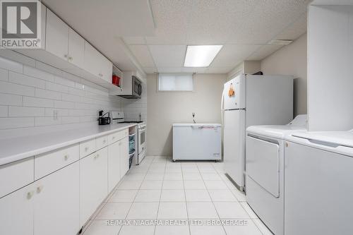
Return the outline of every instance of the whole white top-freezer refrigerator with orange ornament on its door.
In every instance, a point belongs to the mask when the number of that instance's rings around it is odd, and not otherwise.
[[[221,106],[225,171],[244,190],[246,128],[292,121],[293,77],[241,74],[225,83]]]

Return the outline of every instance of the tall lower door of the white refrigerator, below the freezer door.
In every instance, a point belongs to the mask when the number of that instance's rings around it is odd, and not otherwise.
[[[244,187],[245,110],[225,111],[225,171],[239,187]]]

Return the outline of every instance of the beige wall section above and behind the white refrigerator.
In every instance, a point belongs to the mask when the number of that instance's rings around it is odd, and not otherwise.
[[[307,50],[306,34],[261,61],[265,75],[294,76],[294,115],[307,113]]]

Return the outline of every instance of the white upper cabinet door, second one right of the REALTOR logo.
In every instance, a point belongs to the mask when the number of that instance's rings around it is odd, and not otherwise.
[[[68,30],[68,61],[83,68],[85,60],[85,40],[73,29]]]

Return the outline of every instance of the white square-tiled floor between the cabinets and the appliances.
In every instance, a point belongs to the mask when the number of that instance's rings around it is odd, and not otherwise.
[[[189,224],[107,226],[107,219],[181,219]],[[208,226],[191,219],[239,219],[246,225]],[[216,220],[217,221],[217,220]],[[172,162],[148,156],[128,171],[85,227],[84,235],[271,234],[224,174],[222,162]]]

